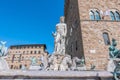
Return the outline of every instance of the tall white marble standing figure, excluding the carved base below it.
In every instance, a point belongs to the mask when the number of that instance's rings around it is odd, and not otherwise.
[[[64,23],[64,17],[60,17],[60,23],[56,25],[56,32],[53,33],[55,38],[54,53],[65,54],[65,38],[67,34],[67,26]]]

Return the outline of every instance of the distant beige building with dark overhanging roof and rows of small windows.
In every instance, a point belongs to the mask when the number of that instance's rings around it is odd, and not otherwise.
[[[40,56],[42,54],[47,56],[48,54],[45,50],[45,44],[13,45],[8,49],[6,60],[10,69],[21,69],[22,66],[29,69],[33,57],[37,59],[37,64],[40,65]]]

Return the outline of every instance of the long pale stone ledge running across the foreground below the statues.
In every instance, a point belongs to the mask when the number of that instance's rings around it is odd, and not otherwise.
[[[107,71],[0,71],[0,79],[114,80]]]

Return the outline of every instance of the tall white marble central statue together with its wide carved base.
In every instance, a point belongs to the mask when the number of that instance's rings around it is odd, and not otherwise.
[[[47,70],[53,71],[68,71],[74,70],[77,68],[78,70],[83,70],[83,66],[79,67],[77,62],[84,65],[84,60],[81,59],[80,61],[74,61],[71,58],[71,55],[65,54],[65,42],[66,42],[66,35],[67,35],[67,25],[64,23],[64,17],[60,18],[60,23],[56,25],[56,32],[52,33],[54,36],[54,44],[55,49],[53,54],[48,58],[48,68]],[[75,65],[73,65],[75,64]],[[85,70],[85,69],[84,69]]]

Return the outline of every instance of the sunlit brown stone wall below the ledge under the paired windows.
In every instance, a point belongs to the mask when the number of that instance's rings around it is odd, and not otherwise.
[[[94,64],[96,69],[106,69],[109,58],[109,45],[104,43],[103,32],[109,34],[110,40],[115,38],[119,44],[118,48],[120,48],[120,24],[111,21],[83,21],[81,26],[83,26],[82,39],[87,66]],[[92,53],[91,50],[95,52]]]

